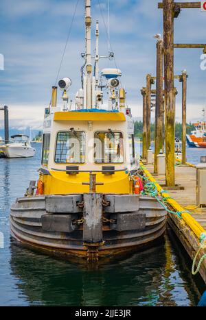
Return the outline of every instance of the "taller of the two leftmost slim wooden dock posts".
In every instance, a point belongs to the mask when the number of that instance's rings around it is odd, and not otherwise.
[[[151,144],[151,78],[150,73],[146,76],[146,103],[147,103],[147,113],[146,113],[146,124],[147,124],[147,150],[150,148]]]

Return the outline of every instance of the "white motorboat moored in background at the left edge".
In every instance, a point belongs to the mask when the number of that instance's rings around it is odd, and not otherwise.
[[[0,148],[5,158],[30,158],[33,157],[36,149],[30,144],[30,138],[25,134],[15,134],[12,140]]]

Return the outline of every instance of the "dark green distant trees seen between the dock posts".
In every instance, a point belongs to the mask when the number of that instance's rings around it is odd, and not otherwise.
[[[192,130],[195,130],[192,123],[187,123],[187,134],[190,134]],[[142,121],[135,121],[135,137],[142,138],[143,123]],[[175,137],[181,139],[182,136],[182,124],[179,122],[175,123]],[[151,139],[155,139],[155,123],[151,123]]]

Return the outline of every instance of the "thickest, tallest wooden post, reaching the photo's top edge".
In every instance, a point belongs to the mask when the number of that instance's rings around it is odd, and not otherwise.
[[[174,0],[163,0],[163,29],[165,66],[165,182],[166,186],[174,186]]]

